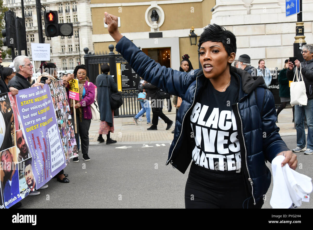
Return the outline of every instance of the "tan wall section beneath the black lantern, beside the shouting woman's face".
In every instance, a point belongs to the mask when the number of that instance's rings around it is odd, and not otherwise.
[[[199,41],[199,36],[197,37],[197,43]],[[189,61],[192,64],[193,69],[198,69],[198,46],[197,45],[190,45],[189,37],[187,38],[179,38],[179,57],[180,61],[182,60],[182,56],[184,54],[189,55]],[[178,70],[178,69],[177,69]]]

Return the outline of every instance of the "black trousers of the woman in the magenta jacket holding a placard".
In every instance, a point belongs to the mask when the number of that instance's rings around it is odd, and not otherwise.
[[[72,123],[74,126],[74,114],[72,115]],[[75,133],[76,143],[80,143],[82,154],[88,154],[89,148],[89,128],[90,128],[91,119],[87,120],[83,118],[79,118],[79,115],[76,113],[76,128],[77,133]],[[75,129],[75,128],[74,128]],[[79,142],[80,138],[80,142]]]

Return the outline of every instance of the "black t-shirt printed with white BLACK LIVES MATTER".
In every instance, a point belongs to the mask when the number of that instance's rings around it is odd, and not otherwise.
[[[238,94],[239,84],[234,76],[224,92],[214,89],[206,79],[190,115],[195,139],[192,161],[197,165],[217,171],[241,168],[237,125],[232,111]]]

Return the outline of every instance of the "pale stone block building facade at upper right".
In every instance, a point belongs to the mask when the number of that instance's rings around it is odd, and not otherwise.
[[[216,0],[211,23],[231,30],[237,54],[248,54],[251,64],[265,60],[268,68],[282,69],[293,57],[297,15],[286,17],[285,0]],[[302,1],[305,42],[313,43],[313,1]]]

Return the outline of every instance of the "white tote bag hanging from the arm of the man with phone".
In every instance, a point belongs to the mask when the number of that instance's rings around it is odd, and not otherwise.
[[[295,76],[297,81],[295,82]],[[308,97],[306,96],[305,83],[303,81],[303,76],[301,73],[300,65],[300,76],[298,79],[298,68],[296,67],[295,76],[290,83],[290,105],[306,105],[308,102]]]

